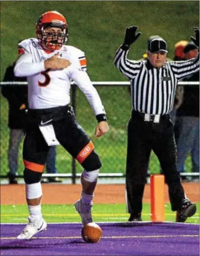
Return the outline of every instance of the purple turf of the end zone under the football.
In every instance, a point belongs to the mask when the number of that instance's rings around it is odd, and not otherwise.
[[[2,224],[1,255],[199,255],[198,225],[142,222],[99,226],[101,241],[88,244],[81,238],[81,224],[48,224],[35,239],[22,241],[15,237],[24,225]]]

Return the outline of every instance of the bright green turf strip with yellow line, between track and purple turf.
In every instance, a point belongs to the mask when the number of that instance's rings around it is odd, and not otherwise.
[[[187,219],[187,223],[199,224],[199,204],[196,204],[195,215]],[[50,223],[80,222],[73,204],[43,204],[44,218]],[[93,219],[95,222],[127,221],[125,204],[94,204]],[[26,205],[2,205],[1,223],[27,223],[29,212]],[[143,204],[143,221],[150,221],[150,204]],[[171,211],[169,203],[165,204],[165,221],[175,221],[175,212]]]

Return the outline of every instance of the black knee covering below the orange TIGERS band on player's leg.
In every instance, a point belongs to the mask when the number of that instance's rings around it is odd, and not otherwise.
[[[88,172],[91,172],[92,170],[100,169],[102,166],[99,156],[95,151],[92,151],[88,155],[88,157],[84,160],[84,162],[81,163],[81,165]]]

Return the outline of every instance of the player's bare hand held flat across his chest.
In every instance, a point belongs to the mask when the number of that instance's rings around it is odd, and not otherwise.
[[[71,65],[71,62],[66,59],[58,58],[59,53],[56,53],[54,56],[50,57],[48,60],[44,61],[45,69],[59,70],[65,69]]]

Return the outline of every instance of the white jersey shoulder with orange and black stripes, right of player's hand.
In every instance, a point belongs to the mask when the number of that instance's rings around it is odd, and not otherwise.
[[[75,63],[77,63],[77,66],[81,68],[82,70],[87,70],[87,60],[85,58],[85,53],[82,52],[82,50],[74,47],[74,46],[66,46],[68,52],[70,53],[72,59]]]

